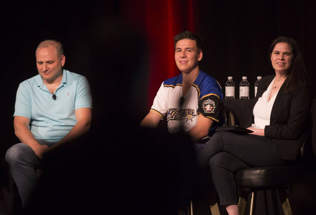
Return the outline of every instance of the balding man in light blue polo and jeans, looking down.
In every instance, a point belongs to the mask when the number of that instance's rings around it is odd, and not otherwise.
[[[92,115],[88,80],[62,68],[61,43],[43,41],[35,54],[39,74],[23,81],[16,93],[14,128],[21,143],[6,153],[24,208],[37,186],[34,165],[46,152],[86,133]]]

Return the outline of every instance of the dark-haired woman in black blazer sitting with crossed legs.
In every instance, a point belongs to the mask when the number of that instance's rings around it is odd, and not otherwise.
[[[297,43],[292,38],[276,38],[269,58],[275,75],[259,82],[248,123],[253,133],[217,132],[197,157],[201,169],[211,170],[220,204],[229,215],[239,214],[234,173],[249,167],[284,166],[286,160],[295,160],[300,138],[311,127],[311,90]]]

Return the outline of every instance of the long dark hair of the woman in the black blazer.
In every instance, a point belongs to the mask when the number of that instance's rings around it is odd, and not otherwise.
[[[269,49],[269,60],[271,62],[271,54],[277,43],[285,42],[292,47],[292,53],[294,54],[292,65],[290,67],[290,72],[288,76],[287,84],[283,89],[283,93],[289,93],[295,90],[298,84],[307,84],[309,83],[308,73],[304,64],[304,60],[300,51],[299,46],[296,41],[290,37],[281,36],[276,38]],[[272,62],[271,62],[272,65]]]

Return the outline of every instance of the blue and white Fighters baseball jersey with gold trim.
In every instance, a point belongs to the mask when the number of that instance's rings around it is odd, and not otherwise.
[[[181,98],[183,97],[183,98]],[[197,114],[222,124],[223,93],[221,85],[200,70],[190,90],[183,96],[182,74],[165,80],[154,99],[150,111],[166,117],[170,133],[187,132],[197,125]]]

